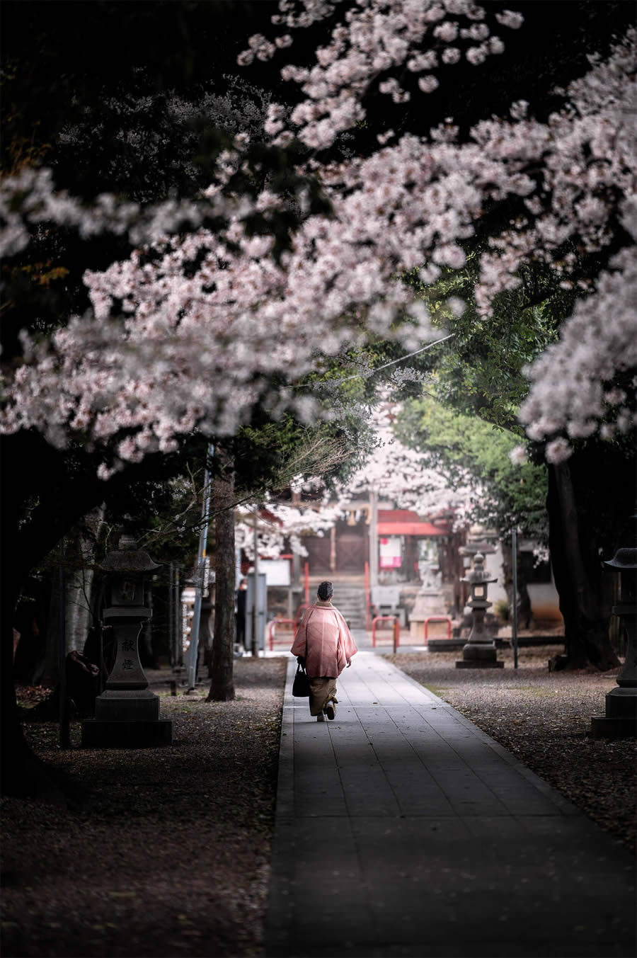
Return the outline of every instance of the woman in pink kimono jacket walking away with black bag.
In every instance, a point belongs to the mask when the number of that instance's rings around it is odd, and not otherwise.
[[[306,609],[291,648],[309,679],[309,714],[317,721],[336,715],[336,679],[358,651],[348,624],[331,604],[331,582],[321,582],[317,601]]]

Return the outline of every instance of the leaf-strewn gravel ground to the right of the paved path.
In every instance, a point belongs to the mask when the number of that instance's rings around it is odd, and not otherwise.
[[[459,652],[389,655],[388,659],[449,702],[491,738],[557,787],[607,832],[635,851],[637,742],[593,739],[590,719],[603,715],[616,673],[553,672],[555,646],[523,648],[517,672],[456,669]]]

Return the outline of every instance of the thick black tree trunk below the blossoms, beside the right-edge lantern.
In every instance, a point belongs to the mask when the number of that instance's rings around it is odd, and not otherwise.
[[[549,467],[549,546],[566,638],[558,668],[619,665],[609,639],[612,574],[603,559],[626,545],[633,488],[626,456],[597,444]]]

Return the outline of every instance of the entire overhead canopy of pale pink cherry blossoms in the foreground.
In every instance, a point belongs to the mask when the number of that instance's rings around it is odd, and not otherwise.
[[[374,149],[348,155],[335,148],[368,123],[370,91],[398,112],[422,103],[426,116],[427,98],[452,83],[448,70],[506,55],[523,13],[471,0],[282,0],[276,16],[279,35],[253,36],[242,64],[291,55],[299,32],[323,23],[330,36],[313,64],[284,68],[297,103],[269,104],[270,142],[230,130],[200,193],[142,206],[80,197],[46,168],[3,180],[0,250],[17,329],[2,357],[0,433],[38,452],[42,436],[69,463],[72,452],[82,494],[95,495],[96,482],[152,468],[193,432],[234,435],[255,409],[308,422],[321,406],[297,386],[321,357],[378,339],[414,352],[440,336],[400,279],[418,269],[435,283],[468,253],[480,263],[478,322],[537,262],[579,293],[529,372],[522,410],[549,460],[563,466],[580,437],[629,439],[634,30],[569,78],[548,111],[517,97],[508,114],[466,128],[453,118],[424,131],[385,125]],[[86,252],[78,295],[46,322],[30,311],[22,326],[27,277],[43,293],[70,288],[59,258],[69,243]]]

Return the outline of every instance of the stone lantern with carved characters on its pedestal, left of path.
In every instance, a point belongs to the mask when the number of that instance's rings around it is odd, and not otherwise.
[[[86,748],[170,745],[172,722],[159,718],[159,697],[148,689],[138,649],[140,632],[151,616],[147,582],[160,566],[124,534],[101,568],[109,573],[103,623],[113,630],[115,665],[95,700],[95,719],[81,723],[81,743]]]

